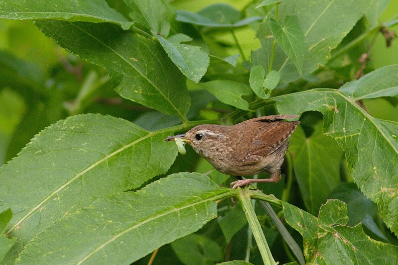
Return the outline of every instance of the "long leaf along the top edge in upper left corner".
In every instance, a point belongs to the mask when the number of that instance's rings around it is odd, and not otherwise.
[[[128,21],[104,0],[2,0],[0,17],[7,19],[62,19],[68,21],[112,22],[129,29]]]

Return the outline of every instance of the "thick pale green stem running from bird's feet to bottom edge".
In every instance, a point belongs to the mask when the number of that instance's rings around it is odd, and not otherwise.
[[[242,203],[243,211],[245,212],[249,226],[253,231],[253,236],[256,239],[256,243],[261,257],[263,258],[264,265],[277,265],[272,257],[270,247],[268,246],[267,240],[265,239],[263,233],[263,229],[261,228],[257,215],[254,212],[252,203],[250,201],[250,194],[252,192],[250,192],[248,187],[244,187],[243,189],[238,188],[238,190],[240,190],[240,194],[238,196],[239,200]]]

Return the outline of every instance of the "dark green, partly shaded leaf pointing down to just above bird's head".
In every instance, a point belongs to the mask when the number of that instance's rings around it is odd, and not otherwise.
[[[186,79],[157,41],[111,24],[48,20],[36,25],[80,58],[104,67],[121,96],[185,118],[191,104]]]

